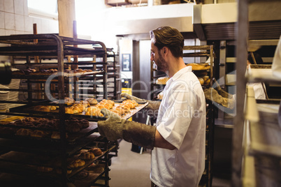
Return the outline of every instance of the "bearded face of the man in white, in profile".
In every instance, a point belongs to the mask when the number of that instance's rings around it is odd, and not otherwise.
[[[158,48],[154,45],[153,42],[151,42],[150,51],[151,51],[150,61],[153,61],[156,64],[157,70],[160,70],[160,71],[168,70],[167,63],[161,54],[161,50],[158,50]]]

